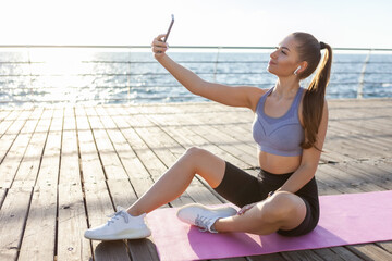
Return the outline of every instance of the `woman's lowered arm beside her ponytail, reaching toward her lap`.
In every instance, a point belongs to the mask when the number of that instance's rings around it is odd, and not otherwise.
[[[328,127],[328,104],[324,101],[321,123],[317,134],[316,146],[322,150],[322,146],[327,135]],[[317,166],[320,160],[321,151],[315,147],[304,149],[299,167],[294,174],[280,187],[277,191],[296,192],[304,187],[316,174]]]

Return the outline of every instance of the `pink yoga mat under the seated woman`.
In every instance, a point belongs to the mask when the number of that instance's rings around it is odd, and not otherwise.
[[[320,197],[320,221],[311,233],[284,237],[277,233],[199,232],[176,217],[177,209],[147,215],[162,261],[220,259],[392,240],[392,190]]]

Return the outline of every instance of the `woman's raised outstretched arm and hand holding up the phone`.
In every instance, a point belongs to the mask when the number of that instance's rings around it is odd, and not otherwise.
[[[164,35],[159,35],[152,41],[151,46],[155,58],[186,89],[194,95],[222,104],[245,107],[255,111],[257,101],[265,90],[248,86],[232,87],[201,79],[195,73],[177,64],[164,53],[168,50],[168,45],[162,41],[163,37]]]

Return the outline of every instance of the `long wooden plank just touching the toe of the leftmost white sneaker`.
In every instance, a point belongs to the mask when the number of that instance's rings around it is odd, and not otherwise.
[[[81,182],[75,116],[65,108],[59,178],[57,260],[89,260],[90,241],[84,238],[87,214]]]

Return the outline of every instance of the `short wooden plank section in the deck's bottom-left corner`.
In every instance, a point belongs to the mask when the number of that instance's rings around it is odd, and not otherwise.
[[[32,188],[10,188],[0,211],[0,260],[16,260]]]

